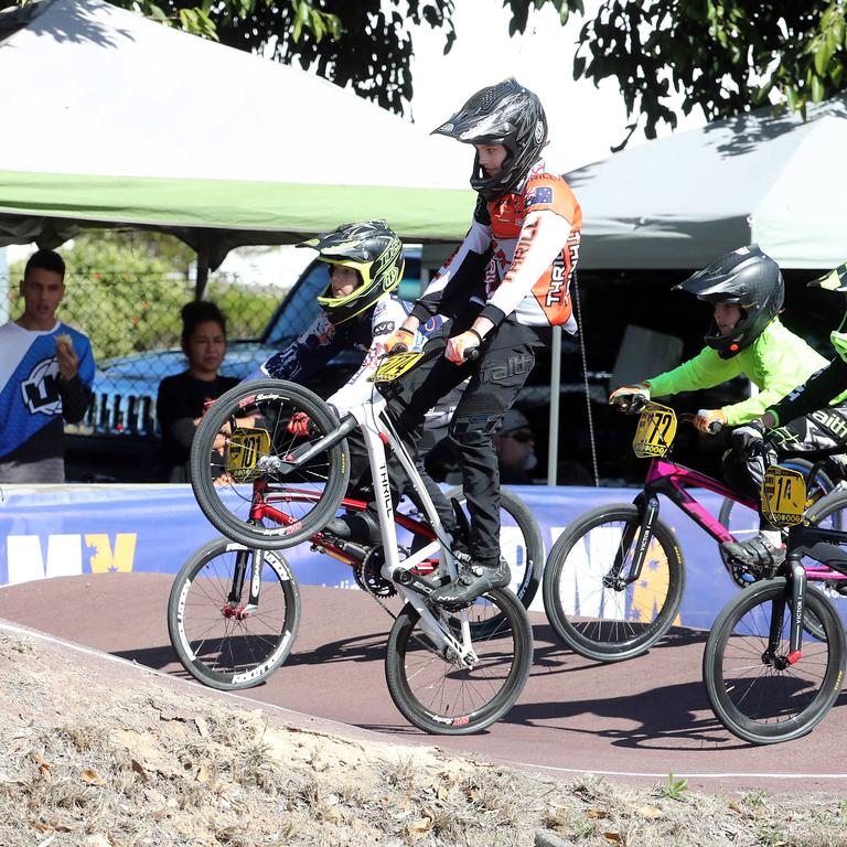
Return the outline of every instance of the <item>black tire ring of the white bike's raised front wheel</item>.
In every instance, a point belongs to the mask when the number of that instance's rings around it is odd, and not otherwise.
[[[212,444],[226,418],[238,408],[239,400],[258,393],[281,393],[298,403],[321,433],[337,427],[335,415],[326,404],[302,386],[281,379],[257,379],[242,383],[221,395],[201,418],[191,447],[191,486],[203,514],[212,526],[238,544],[265,549],[293,547],[323,528],[335,514],[347,487],[350,448],[346,439],[328,451],[329,471],[323,496],[308,515],[290,526],[257,526],[235,518],[219,504],[215,485],[208,473]]]

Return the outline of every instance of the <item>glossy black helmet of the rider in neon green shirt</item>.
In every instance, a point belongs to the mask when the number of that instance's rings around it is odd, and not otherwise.
[[[712,322],[705,337],[721,358],[731,358],[749,347],[776,317],[785,299],[780,266],[757,244],[721,256],[675,288],[707,303],[736,303],[741,308],[741,319],[726,335]]]

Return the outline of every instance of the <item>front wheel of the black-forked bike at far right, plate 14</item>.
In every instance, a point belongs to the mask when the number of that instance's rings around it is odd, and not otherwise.
[[[810,732],[844,682],[844,626],[832,603],[812,586],[805,607],[819,621],[825,640],[805,635],[801,657],[789,662],[787,594],[784,577],[744,589],[718,615],[703,654],[703,678],[715,715],[732,735],[754,744],[791,741]],[[769,646],[772,631],[779,635],[775,650]]]

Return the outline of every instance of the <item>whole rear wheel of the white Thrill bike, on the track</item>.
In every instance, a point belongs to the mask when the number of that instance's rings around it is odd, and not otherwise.
[[[432,612],[451,628],[451,615],[435,605]],[[512,708],[529,677],[533,630],[517,598],[508,590],[489,591],[469,614],[476,655],[471,667],[436,646],[410,603],[388,636],[388,691],[403,716],[425,732],[463,736],[485,729]],[[498,624],[485,626],[494,617]],[[481,629],[484,635],[476,634]]]

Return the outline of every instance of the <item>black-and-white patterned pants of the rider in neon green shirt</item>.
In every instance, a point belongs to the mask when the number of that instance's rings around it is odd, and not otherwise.
[[[847,450],[847,404],[818,409],[772,430],[764,441],[764,451],[755,455],[743,457],[728,450],[723,454],[723,476],[730,487],[758,503],[764,473],[772,464],[837,444]],[[762,529],[773,528],[764,517],[760,524]]]

